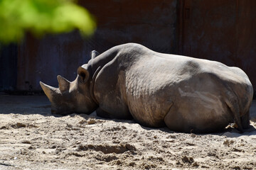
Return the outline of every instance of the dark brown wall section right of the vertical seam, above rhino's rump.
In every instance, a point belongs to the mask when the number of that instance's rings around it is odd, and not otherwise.
[[[183,0],[180,3],[179,52],[240,67],[256,89],[256,1]]]

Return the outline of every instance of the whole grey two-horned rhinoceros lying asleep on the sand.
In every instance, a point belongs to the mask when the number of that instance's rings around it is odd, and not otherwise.
[[[154,52],[136,43],[112,47],[78,67],[58,88],[40,82],[52,113],[134,119],[151,128],[217,132],[250,126],[253,89],[245,72],[220,62]]]

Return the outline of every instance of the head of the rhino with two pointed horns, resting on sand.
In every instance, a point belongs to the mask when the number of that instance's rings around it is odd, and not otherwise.
[[[70,113],[90,114],[97,108],[97,103],[90,93],[90,73],[87,71],[87,64],[78,68],[78,77],[70,82],[58,75],[58,88],[48,86],[40,82],[40,85],[49,98],[51,112],[60,115]]]

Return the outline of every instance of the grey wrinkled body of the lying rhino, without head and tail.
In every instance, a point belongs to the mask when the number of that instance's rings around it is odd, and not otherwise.
[[[95,88],[97,99],[110,113],[130,113],[150,127],[167,125],[171,130],[206,132],[233,122],[232,105],[245,106],[244,111],[239,109],[241,115],[249,110],[252,86],[240,69],[165,55],[137,44],[119,45],[114,51],[115,57],[96,79],[98,84],[107,85]],[[237,92],[239,89],[242,92]],[[233,97],[238,102],[228,105]]]

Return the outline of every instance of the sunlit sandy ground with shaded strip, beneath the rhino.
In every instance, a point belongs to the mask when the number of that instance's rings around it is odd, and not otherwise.
[[[92,115],[52,115],[46,96],[0,94],[0,169],[256,169],[251,125],[207,135]]]

